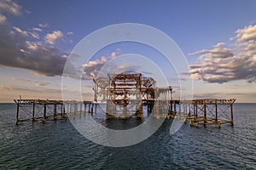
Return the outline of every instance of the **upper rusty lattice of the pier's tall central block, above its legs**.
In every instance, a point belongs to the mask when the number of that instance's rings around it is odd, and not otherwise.
[[[142,77],[142,74],[108,75],[93,81],[96,102],[106,102],[111,99],[118,105],[125,105],[118,102],[127,99],[154,99],[155,81],[151,77]]]

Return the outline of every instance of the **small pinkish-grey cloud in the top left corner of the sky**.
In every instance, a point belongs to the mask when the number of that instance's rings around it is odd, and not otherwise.
[[[0,11],[19,15],[21,14],[21,6],[11,0],[3,0],[0,1]]]

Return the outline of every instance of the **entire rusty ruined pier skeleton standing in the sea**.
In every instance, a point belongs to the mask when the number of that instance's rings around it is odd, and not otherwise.
[[[152,77],[141,73],[121,73],[98,77],[94,82],[94,101],[15,99],[16,124],[26,120],[58,120],[84,113],[96,113],[97,105],[106,105],[106,119],[154,116],[183,116],[191,126],[223,123],[233,125],[236,99],[172,99],[172,87],[158,88]]]

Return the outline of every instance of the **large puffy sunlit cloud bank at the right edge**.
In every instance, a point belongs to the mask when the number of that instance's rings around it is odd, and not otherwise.
[[[235,48],[225,48],[226,44],[219,42],[212,49],[189,54],[199,56],[190,65],[192,78],[212,83],[256,82],[256,26],[238,29],[233,40]]]

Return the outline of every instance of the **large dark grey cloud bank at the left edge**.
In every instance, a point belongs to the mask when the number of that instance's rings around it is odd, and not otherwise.
[[[27,41],[27,32],[0,25],[0,65],[23,68],[34,74],[61,76],[67,58],[59,48]]]

